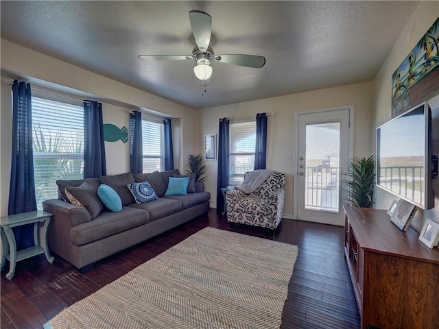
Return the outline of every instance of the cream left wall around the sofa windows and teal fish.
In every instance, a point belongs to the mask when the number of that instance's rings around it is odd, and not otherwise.
[[[195,153],[195,134],[199,132],[199,128],[195,126],[197,112],[191,108],[80,69],[4,39],[1,39],[1,76],[1,216],[8,213],[12,138],[11,93],[10,86],[3,83],[4,77],[19,78],[19,80],[31,82],[32,85],[40,84],[59,88],[102,101],[104,123],[113,123],[118,127],[123,125],[129,127],[128,109],[131,108],[149,110],[164,117],[171,117],[174,127],[173,142],[176,149],[174,166],[176,169],[183,171],[187,156]],[[129,171],[128,151],[128,143],[106,142],[106,162],[109,174]]]

